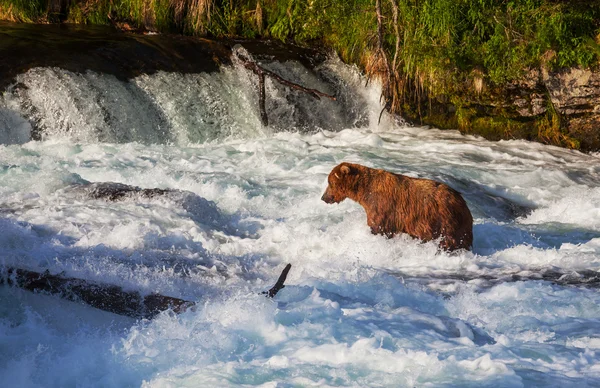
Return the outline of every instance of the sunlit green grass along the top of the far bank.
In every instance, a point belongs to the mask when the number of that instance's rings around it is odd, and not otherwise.
[[[213,37],[265,37],[336,49],[365,64],[376,44],[375,0],[71,0],[60,20]],[[397,71],[435,86],[432,77],[481,69],[502,84],[530,66],[598,63],[600,2],[560,0],[393,0],[399,10]],[[59,0],[0,0],[0,17],[56,20]],[[391,0],[382,0],[384,45],[394,55]],[[460,80],[454,77],[452,81]]]

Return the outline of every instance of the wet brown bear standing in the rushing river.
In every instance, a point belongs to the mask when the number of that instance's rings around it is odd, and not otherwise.
[[[467,203],[444,183],[351,163],[336,166],[327,180],[321,199],[358,202],[367,212],[373,234],[406,233],[423,241],[441,237],[440,248],[448,251],[470,249],[473,244],[473,217]]]

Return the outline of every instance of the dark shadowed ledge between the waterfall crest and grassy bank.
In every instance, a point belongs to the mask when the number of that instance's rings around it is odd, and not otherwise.
[[[201,73],[231,62],[238,43],[256,58],[296,60],[310,68],[317,50],[273,41],[210,40],[182,35],[125,33],[112,27],[0,22],[0,90],[34,67],[92,70],[128,80],[157,71]]]

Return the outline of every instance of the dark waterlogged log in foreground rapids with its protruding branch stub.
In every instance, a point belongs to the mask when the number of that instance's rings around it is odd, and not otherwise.
[[[279,276],[277,283],[263,294],[270,298],[277,295],[279,290],[285,287],[283,283],[291,267],[291,264],[288,264]],[[114,285],[64,277],[61,274],[51,275],[48,271],[40,273],[21,268],[5,268],[0,276],[0,285],[2,284],[31,292],[58,295],[73,302],[87,303],[100,310],[137,319],[152,319],[168,309],[182,313],[195,304],[170,296],[141,295],[139,292],[125,291]]]

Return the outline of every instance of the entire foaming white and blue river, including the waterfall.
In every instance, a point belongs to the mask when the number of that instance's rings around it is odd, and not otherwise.
[[[270,68],[340,101],[268,81],[263,128],[237,67],[38,68],[0,97],[0,264],[197,302],[136,321],[0,286],[1,386],[600,385],[598,289],[535,280],[600,270],[598,155],[378,125],[377,85],[338,61]],[[462,192],[473,252],[323,203],[342,161]],[[90,197],[102,182],[170,191]]]

